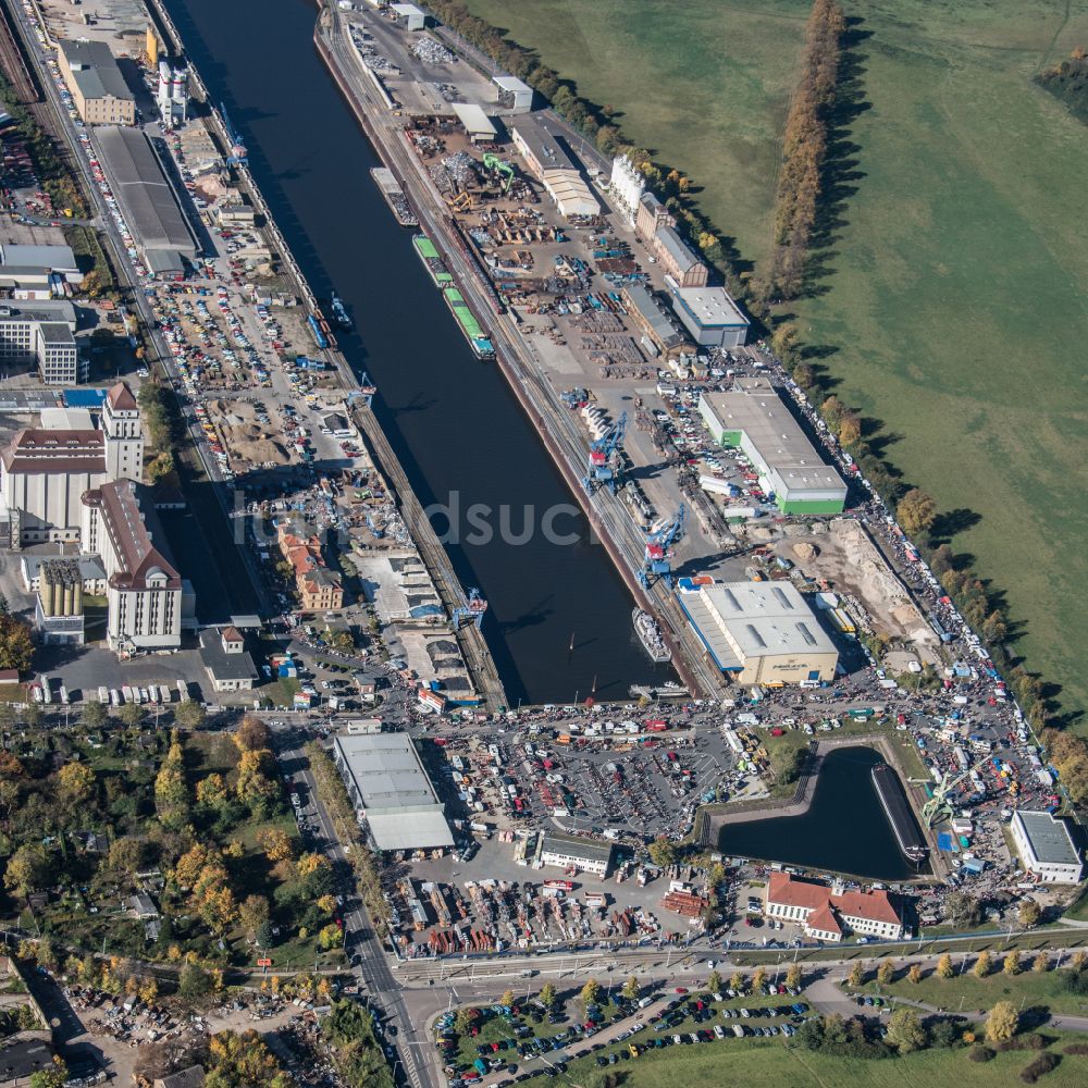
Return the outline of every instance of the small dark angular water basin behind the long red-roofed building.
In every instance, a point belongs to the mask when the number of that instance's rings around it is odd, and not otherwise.
[[[825,756],[808,811],[749,824],[727,824],[718,849],[732,857],[782,862],[903,880],[919,870],[900,852],[873,787],[871,769],[885,761],[870,747],[836,749]],[[928,871],[923,866],[920,871]]]

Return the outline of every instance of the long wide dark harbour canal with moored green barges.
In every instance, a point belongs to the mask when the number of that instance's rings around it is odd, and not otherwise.
[[[489,602],[483,631],[511,703],[622,698],[675,679],[631,625],[633,602],[494,366],[475,360],[371,181],[373,149],[317,55],[311,0],[168,0],[189,58],[249,149],[272,213],[318,296],[356,321],[345,355],[424,507],[460,510],[447,545]],[[479,504],[479,505],[477,505]],[[548,510],[576,543],[540,531]],[[485,511],[491,529],[465,540]],[[535,528],[532,528],[535,527]],[[444,518],[435,528],[446,529]],[[573,648],[571,648],[573,647]]]

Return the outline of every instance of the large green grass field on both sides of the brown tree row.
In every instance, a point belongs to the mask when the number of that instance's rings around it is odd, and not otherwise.
[[[759,260],[807,0],[468,0],[536,48],[626,134],[703,186]],[[1016,648],[1088,706],[1088,133],[1031,82],[1088,45],[1064,0],[844,0],[866,109],[856,191],[818,297],[796,307],[837,392],[1006,593]],[[977,516],[977,520],[974,516]]]

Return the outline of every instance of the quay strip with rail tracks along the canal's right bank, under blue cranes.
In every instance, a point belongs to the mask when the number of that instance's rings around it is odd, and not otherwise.
[[[541,373],[526,337],[509,313],[500,314],[495,289],[480,262],[471,254],[458,225],[449,217],[446,202],[429,177],[405,136],[401,111],[391,111],[391,100],[380,83],[368,78],[355,55],[356,46],[342,12],[321,7],[314,27],[318,52],[326,63],[363,132],[386,166],[400,180],[431,239],[443,255],[475,312],[487,314],[495,358],[526,415],[536,428],[571,494],[582,506],[593,531],[605,546],[620,576],[639,605],[662,618],[664,636],[672,652],[672,664],[687,688],[697,695],[714,695],[722,690],[720,672],[707,662],[683,613],[676,603],[669,583],[657,581],[648,588],[640,584],[646,552],[646,537],[640,532],[622,502],[607,489],[586,495],[582,477],[585,465],[585,438],[579,433],[570,410],[557,397]]]

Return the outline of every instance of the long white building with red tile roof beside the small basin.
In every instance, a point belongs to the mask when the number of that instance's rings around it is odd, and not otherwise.
[[[765,911],[768,918],[793,922],[816,940],[841,941],[845,932],[899,940],[903,923],[888,892],[846,891],[789,873],[771,873]]]

